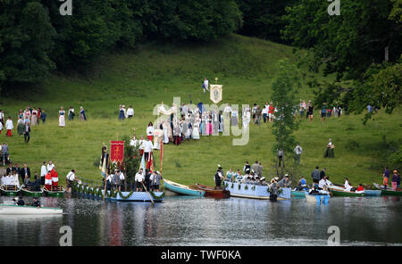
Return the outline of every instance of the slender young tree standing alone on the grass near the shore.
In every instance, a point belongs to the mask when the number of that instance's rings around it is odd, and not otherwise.
[[[296,66],[289,63],[289,60],[281,60],[278,68],[278,77],[272,83],[272,102],[278,110],[272,124],[272,134],[276,139],[276,143],[272,144],[272,153],[275,157],[278,150],[282,150],[286,155],[292,153],[295,146],[295,138],[292,134],[297,130],[298,123],[293,113],[297,105],[296,90],[301,87],[299,71]],[[281,172],[278,166],[276,168],[278,176],[283,177],[283,166],[281,166]]]

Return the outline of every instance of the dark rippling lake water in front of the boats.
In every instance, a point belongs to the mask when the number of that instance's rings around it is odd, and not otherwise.
[[[339,227],[341,245],[402,244],[402,202],[392,196],[335,197],[328,205],[189,196],[155,204],[81,197],[41,202],[63,208],[63,215],[0,216],[0,244],[58,245],[63,226],[72,229],[72,245],[327,245],[330,226]]]

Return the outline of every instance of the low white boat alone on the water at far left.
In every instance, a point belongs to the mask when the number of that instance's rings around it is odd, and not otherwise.
[[[0,203],[0,215],[53,215],[63,214],[63,209],[53,207],[35,207]]]

